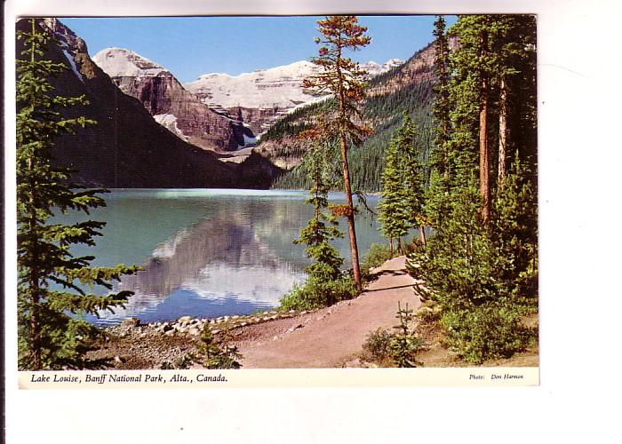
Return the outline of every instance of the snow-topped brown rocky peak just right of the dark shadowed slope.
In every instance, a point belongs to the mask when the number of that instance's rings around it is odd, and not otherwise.
[[[139,99],[157,123],[196,147],[235,151],[254,137],[241,122],[211,109],[186,91],[171,72],[135,52],[108,48],[93,61],[121,91]]]

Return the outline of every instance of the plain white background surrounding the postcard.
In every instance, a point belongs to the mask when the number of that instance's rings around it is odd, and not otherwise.
[[[541,246],[538,388],[20,391],[6,354],[7,442],[610,442],[619,432],[620,87],[618,2],[8,2],[5,97],[14,97],[15,14],[192,15],[537,12]],[[234,31],[232,31],[234,32]],[[7,63],[7,61],[11,61]],[[617,81],[617,79],[616,79]],[[9,101],[5,120],[12,123]],[[5,147],[14,147],[7,131]],[[14,163],[5,150],[5,163]],[[14,171],[7,169],[7,270],[14,270]],[[595,248],[594,248],[595,247]],[[609,253],[607,251],[610,251]],[[5,289],[14,291],[6,274]],[[615,278],[614,278],[615,279]],[[11,292],[5,293],[11,295]],[[6,340],[14,302],[6,301]],[[610,343],[611,339],[615,342]],[[11,358],[11,359],[9,359]],[[605,396],[603,396],[605,395]],[[611,405],[606,403],[610,398]]]

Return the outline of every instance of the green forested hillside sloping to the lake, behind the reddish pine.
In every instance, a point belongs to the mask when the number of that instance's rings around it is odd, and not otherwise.
[[[418,145],[422,147],[419,158],[422,162],[427,161],[433,139],[429,106],[434,85],[433,60],[434,47],[428,45],[403,65],[371,78],[366,89],[367,99],[363,101],[362,115],[364,123],[371,125],[374,133],[361,146],[351,148],[348,154],[355,190],[380,190],[385,148],[402,121],[404,110],[408,111],[418,126]],[[269,150],[274,157],[300,156],[300,151],[306,147],[304,142],[294,138],[301,131],[307,130],[315,121],[315,115],[330,105],[330,100],[323,100],[284,116],[262,136],[259,148]],[[307,180],[304,172],[296,167],[278,178],[272,187],[308,188],[310,184]]]

